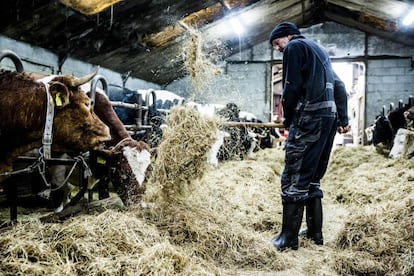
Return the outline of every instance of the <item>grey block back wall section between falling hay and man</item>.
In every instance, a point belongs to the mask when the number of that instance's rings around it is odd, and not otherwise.
[[[244,39],[240,37],[241,43]],[[271,48],[263,42],[235,54],[218,64],[222,73],[213,78],[202,78],[194,87],[189,77],[176,80],[164,89],[197,102],[226,104],[233,102],[264,122],[270,118]],[[200,72],[202,74],[203,72]],[[200,90],[200,91],[199,91]],[[200,96],[201,94],[201,96]],[[194,99],[193,99],[194,100]]]

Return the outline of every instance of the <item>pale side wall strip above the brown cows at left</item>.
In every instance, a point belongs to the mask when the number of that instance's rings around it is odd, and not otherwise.
[[[22,59],[23,68],[26,72],[59,73],[58,56],[50,51],[0,35],[0,50],[6,49],[15,52]],[[4,59],[1,62],[1,68],[15,70],[13,63],[9,59]],[[80,77],[92,72],[95,68],[96,65],[94,64],[69,57],[63,63],[61,73]],[[118,73],[103,67],[100,67],[98,71],[98,74],[104,76],[108,83],[117,85],[122,85],[122,73],[125,72]],[[126,86],[131,89],[160,89],[158,84],[136,78],[129,78]]]

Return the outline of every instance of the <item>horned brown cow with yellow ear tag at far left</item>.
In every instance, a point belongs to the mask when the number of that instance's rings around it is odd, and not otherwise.
[[[88,151],[110,140],[109,128],[90,108],[80,85],[83,78],[49,77],[54,105],[53,151]],[[0,71],[0,173],[11,171],[13,161],[42,146],[47,109],[47,89],[25,73]]]

